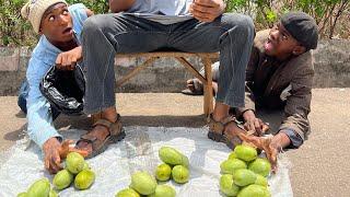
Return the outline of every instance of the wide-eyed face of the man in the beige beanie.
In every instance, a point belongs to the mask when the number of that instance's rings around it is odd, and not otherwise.
[[[65,43],[73,39],[72,18],[65,3],[47,9],[40,23],[40,33],[50,42]]]

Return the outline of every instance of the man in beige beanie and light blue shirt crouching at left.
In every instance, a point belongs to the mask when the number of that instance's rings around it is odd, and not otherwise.
[[[21,12],[42,36],[33,50],[26,71],[27,82],[23,85],[26,88],[21,89],[19,101],[27,112],[30,138],[43,149],[45,167],[56,173],[68,151],[79,150],[70,149],[69,140],[61,142],[62,137],[52,126],[55,117],[50,104],[40,93],[39,83],[50,67],[57,65],[60,69],[71,70],[81,59],[80,35],[83,22],[92,11],[83,4],[68,7],[65,0],[30,0]]]

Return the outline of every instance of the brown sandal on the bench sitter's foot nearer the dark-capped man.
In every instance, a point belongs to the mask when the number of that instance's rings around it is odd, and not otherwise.
[[[242,139],[238,136],[230,136],[229,138],[224,134],[225,127],[230,123],[236,124],[236,126],[242,129],[242,132],[246,132],[235,117],[228,116],[222,121],[217,121],[213,119],[212,114],[210,114],[207,119],[207,124],[209,126],[208,138],[218,142],[224,142],[230,149],[234,149],[236,144],[241,144]]]

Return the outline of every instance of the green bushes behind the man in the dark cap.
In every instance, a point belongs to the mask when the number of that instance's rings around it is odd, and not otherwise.
[[[228,12],[242,12],[255,19],[257,28],[271,27],[289,11],[303,11],[313,16],[322,37],[332,38],[336,34],[348,38],[349,0],[225,0]],[[345,24],[340,25],[340,22]]]

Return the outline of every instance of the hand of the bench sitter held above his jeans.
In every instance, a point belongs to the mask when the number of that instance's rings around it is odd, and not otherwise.
[[[194,0],[189,12],[195,19],[202,22],[212,22],[225,10],[223,0]]]

